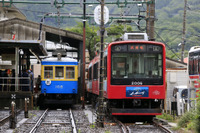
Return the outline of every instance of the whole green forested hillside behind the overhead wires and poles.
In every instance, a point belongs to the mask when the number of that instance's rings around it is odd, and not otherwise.
[[[41,0],[35,0],[41,1]],[[86,0],[87,2],[97,2],[96,0]],[[116,2],[117,0],[109,0],[109,2]],[[77,2],[80,0],[69,0],[69,2]],[[105,0],[105,2],[107,2]],[[33,4],[15,4],[17,8],[19,8],[26,16],[28,20],[40,22],[41,16],[44,16],[46,13],[57,13],[61,14],[70,14],[75,13],[82,15],[83,7],[81,4],[79,5],[65,5],[64,8],[56,9],[52,5],[33,5]],[[93,14],[93,10],[96,5],[86,7],[86,15]],[[118,8],[117,5],[107,5],[109,8],[110,14],[128,14],[128,15],[138,15],[138,7],[136,5],[127,5],[126,8]],[[183,32],[183,11],[184,11],[184,0],[156,0],[156,19],[155,22],[155,38],[156,41],[164,42],[167,45],[167,56],[170,58],[178,59],[180,58],[181,46],[178,46],[182,42],[182,32]],[[196,46],[200,42],[200,1],[199,0],[188,0],[187,4],[187,15],[186,15],[186,42],[185,42],[185,57],[187,57],[187,52],[192,46]],[[39,17],[40,15],[40,17]],[[95,36],[96,41],[98,41],[98,37],[96,36],[96,32],[99,28],[98,25],[92,25],[93,20],[87,20],[89,27],[87,30],[95,29],[92,36]],[[45,24],[61,27],[64,29],[75,30],[74,28],[81,28],[80,23],[82,23],[82,19],[75,18],[60,18],[60,23],[58,17],[55,18],[46,18]],[[126,31],[123,28],[123,24],[121,24],[121,30],[116,23],[111,23],[106,26],[106,29],[109,29],[108,32],[115,32],[117,35],[106,37],[106,41],[112,41],[113,38],[119,37],[119,35],[123,34]],[[113,29],[111,31],[111,29]],[[115,29],[116,28],[116,29]],[[132,23],[129,25],[134,31],[137,31],[136,24]],[[120,30],[120,31],[118,31]],[[130,29],[129,29],[130,30]],[[81,31],[81,30],[80,30]],[[78,33],[80,31],[77,31]],[[76,31],[75,31],[76,32]],[[88,31],[88,41],[87,43],[94,43],[94,40],[91,41],[91,31]],[[93,39],[94,39],[93,38]],[[87,44],[90,46],[90,44]],[[91,45],[93,46],[93,45]],[[94,47],[91,48],[94,50]],[[173,51],[173,52],[172,52]]]

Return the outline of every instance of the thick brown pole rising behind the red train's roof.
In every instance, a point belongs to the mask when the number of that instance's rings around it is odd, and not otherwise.
[[[148,0],[146,0],[148,1]],[[146,32],[150,41],[155,41],[154,38],[154,21],[155,21],[155,0],[151,0],[151,3],[147,3],[147,21]]]

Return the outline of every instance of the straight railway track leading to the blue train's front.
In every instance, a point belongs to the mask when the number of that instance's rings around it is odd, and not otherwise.
[[[71,109],[69,111],[45,110],[29,133],[59,131],[77,133],[76,122]]]

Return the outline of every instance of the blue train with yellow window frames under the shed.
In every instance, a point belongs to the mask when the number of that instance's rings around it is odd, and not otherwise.
[[[78,94],[78,62],[72,58],[48,58],[41,62],[39,106],[73,104]]]

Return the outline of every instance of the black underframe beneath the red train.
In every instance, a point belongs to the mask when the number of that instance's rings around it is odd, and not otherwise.
[[[88,93],[94,107],[98,106],[98,95]],[[110,115],[161,115],[164,99],[106,99],[106,112]]]

